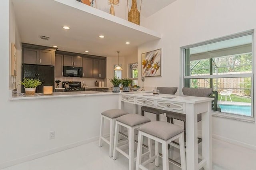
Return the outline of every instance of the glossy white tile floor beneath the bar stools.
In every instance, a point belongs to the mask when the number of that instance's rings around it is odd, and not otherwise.
[[[256,151],[215,139],[212,143],[213,170],[256,170]],[[172,147],[172,151],[170,156],[179,161],[179,150]],[[152,163],[148,168],[161,170],[162,166]],[[180,170],[171,163],[170,169]],[[108,156],[108,145],[103,143],[99,148],[95,141],[3,170],[128,170],[128,159],[118,154],[113,160]]]

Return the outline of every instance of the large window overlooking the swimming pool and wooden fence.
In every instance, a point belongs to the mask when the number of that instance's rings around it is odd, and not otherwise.
[[[223,115],[253,117],[253,32],[183,47],[184,87],[218,91]]]

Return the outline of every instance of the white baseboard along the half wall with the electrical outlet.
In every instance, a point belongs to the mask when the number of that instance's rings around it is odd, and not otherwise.
[[[60,147],[57,147],[57,148],[52,148],[50,150],[46,150],[46,151],[39,152],[39,153],[36,153],[36,154],[31,154],[31,155],[28,155],[28,156],[24,156],[22,158],[18,158],[18,159],[10,160],[10,161],[7,161],[7,162],[3,162],[3,163],[0,164],[0,169],[7,168],[9,166],[14,166],[16,164],[21,164],[23,162],[34,160],[34,159],[37,159],[37,158],[41,158],[43,156],[47,156],[47,155],[54,154],[54,153],[57,153],[57,152],[60,152],[60,151],[63,151],[63,150],[74,148],[76,146],[80,146],[80,145],[83,145],[83,144],[86,144],[86,143],[94,142],[96,140],[99,140],[99,136],[89,138],[89,139],[86,139],[86,140],[82,140],[82,141],[79,141],[79,142],[74,142],[74,143],[67,144],[67,145],[64,145],[64,146],[60,146]]]

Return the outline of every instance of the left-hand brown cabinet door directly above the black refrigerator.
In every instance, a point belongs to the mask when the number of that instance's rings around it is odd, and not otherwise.
[[[39,49],[23,48],[24,64],[39,64]]]

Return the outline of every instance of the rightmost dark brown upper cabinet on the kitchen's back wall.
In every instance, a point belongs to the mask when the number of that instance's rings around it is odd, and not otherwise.
[[[94,78],[106,78],[105,59],[94,59]]]

